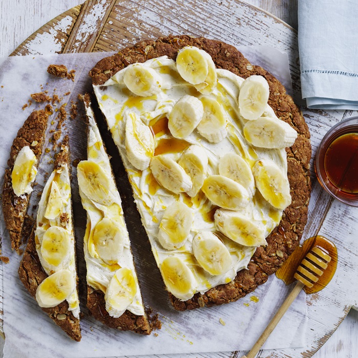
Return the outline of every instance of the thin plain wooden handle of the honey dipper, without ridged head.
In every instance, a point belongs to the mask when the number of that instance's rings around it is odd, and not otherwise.
[[[256,354],[258,353],[258,351],[260,350],[262,345],[266,342],[267,338],[269,338],[269,335],[272,333],[272,331],[275,329],[277,324],[280,322],[281,318],[287,311],[288,307],[292,304],[292,302],[294,302],[295,298],[301,292],[301,289],[303,287],[304,287],[304,284],[302,282],[298,281],[296,283],[296,286],[290,292],[290,294],[287,296],[285,301],[282,303],[282,306],[276,312],[276,315],[270,321],[269,325],[267,325],[266,329],[262,332],[262,334],[260,335],[260,338],[254,344],[251,351],[247,355],[243,355],[241,358],[255,358]]]

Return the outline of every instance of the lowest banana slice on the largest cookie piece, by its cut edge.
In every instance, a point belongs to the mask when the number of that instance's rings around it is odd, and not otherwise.
[[[192,298],[196,292],[196,280],[189,267],[178,257],[164,259],[161,266],[165,285],[170,293],[181,301]]]

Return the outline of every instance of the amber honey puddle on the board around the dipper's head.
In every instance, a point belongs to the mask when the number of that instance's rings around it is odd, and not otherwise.
[[[306,294],[313,294],[319,292],[322,288],[326,287],[329,281],[332,279],[335,269],[337,268],[337,248],[334,243],[329,241],[323,236],[314,236],[305,240],[296,250],[288,257],[288,259],[283,263],[283,265],[276,271],[277,278],[283,280],[286,285],[296,281],[294,278],[295,272],[298,269],[298,266],[301,264],[302,260],[305,258],[307,253],[313,247],[319,247],[324,252],[326,252],[330,257],[331,261],[328,263],[327,269],[323,270],[323,275],[319,280],[314,283],[311,288],[304,287]]]

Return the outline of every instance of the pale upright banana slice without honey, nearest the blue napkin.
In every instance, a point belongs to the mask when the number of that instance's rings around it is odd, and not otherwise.
[[[270,87],[262,76],[250,76],[240,87],[239,109],[243,118],[253,120],[261,117],[269,100]]]

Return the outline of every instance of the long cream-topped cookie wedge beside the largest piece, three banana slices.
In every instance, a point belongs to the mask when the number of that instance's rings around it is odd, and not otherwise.
[[[87,307],[108,327],[150,334],[121,198],[88,95],[84,104],[88,159],[78,164],[77,176],[82,205],[87,211],[83,242]]]

